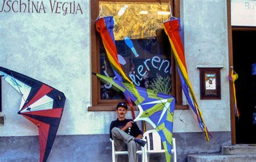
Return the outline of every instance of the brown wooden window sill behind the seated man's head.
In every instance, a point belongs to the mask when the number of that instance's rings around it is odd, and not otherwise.
[[[137,110],[137,106],[134,106]],[[188,105],[176,105],[175,110],[187,110]],[[131,110],[128,106],[128,110]],[[116,111],[116,106],[89,106],[88,111]]]

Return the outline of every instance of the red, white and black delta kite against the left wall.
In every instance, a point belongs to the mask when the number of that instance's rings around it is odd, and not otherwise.
[[[65,105],[64,93],[21,73],[0,67],[0,75],[22,95],[18,114],[38,127],[40,161],[52,149]]]

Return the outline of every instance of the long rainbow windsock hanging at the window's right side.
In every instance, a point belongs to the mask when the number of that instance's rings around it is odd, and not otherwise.
[[[188,101],[188,104],[194,111],[194,113],[197,116],[197,120],[199,123],[199,126],[201,130],[205,132],[205,138],[207,141],[209,141],[209,136],[212,138],[211,134],[208,132],[207,127],[205,125],[203,114],[201,113],[198,104],[197,99],[194,95],[190,80],[187,75],[187,67],[185,62],[185,54],[184,54],[184,48],[183,43],[181,41],[180,37],[180,22],[177,18],[172,18],[170,21],[167,21],[164,23],[164,30],[166,35],[169,37],[171,48],[173,50],[173,56],[176,60],[177,69],[179,72],[179,77],[181,80],[181,86],[183,89],[183,92],[186,96],[186,99]]]

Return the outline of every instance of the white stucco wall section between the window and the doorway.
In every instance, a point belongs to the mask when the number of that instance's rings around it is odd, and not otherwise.
[[[223,0],[184,0],[180,6],[188,75],[209,131],[231,130],[226,8]],[[197,66],[223,66],[221,100],[200,100]],[[175,116],[174,132],[200,131],[192,110],[177,110]]]

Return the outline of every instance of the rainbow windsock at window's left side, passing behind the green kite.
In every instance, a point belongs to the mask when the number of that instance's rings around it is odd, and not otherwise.
[[[99,18],[96,20],[96,29],[100,33],[104,48],[106,50],[107,58],[109,58],[110,64],[112,66],[114,75],[118,80],[129,82],[132,84],[131,80],[127,78],[124,71],[122,70],[121,65],[118,62],[116,42],[114,41],[114,19],[112,16]],[[128,104],[132,110],[132,117],[135,118],[134,108],[131,102],[131,99],[124,95]]]

